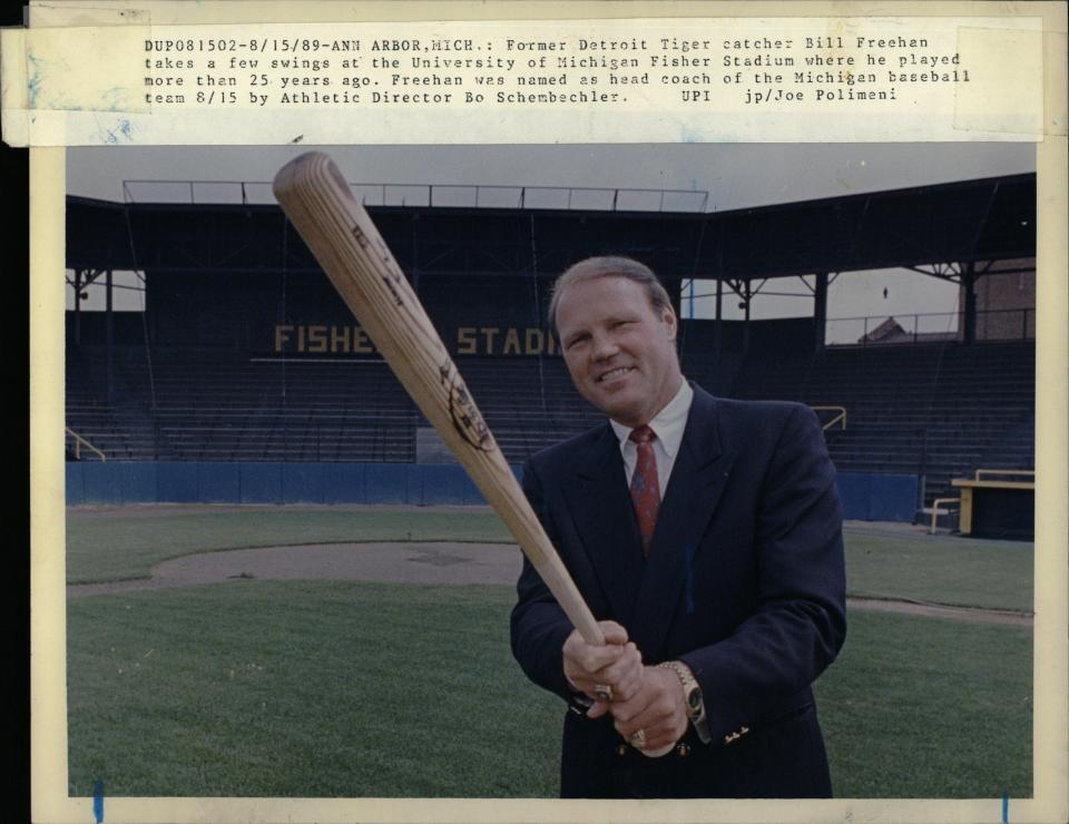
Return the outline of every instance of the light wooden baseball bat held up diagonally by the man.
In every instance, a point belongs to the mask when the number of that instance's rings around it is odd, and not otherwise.
[[[605,644],[493,434],[371,217],[327,155],[313,151],[275,176],[275,197],[398,380],[588,644]]]

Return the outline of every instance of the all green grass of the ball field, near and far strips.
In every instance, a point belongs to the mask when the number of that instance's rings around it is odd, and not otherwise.
[[[484,510],[68,512],[72,580],[192,551],[507,540]],[[1031,548],[847,536],[852,591],[1030,609]],[[548,796],[562,706],[502,586],[235,581],[68,601],[69,784],[109,796]],[[853,611],[817,683],[835,792],[1031,794],[1027,628]],[[964,685],[964,686],[963,686]]]

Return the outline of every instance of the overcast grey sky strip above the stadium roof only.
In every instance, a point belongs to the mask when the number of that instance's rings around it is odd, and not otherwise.
[[[269,182],[303,146],[75,148],[68,192],[121,200],[122,182]],[[717,212],[1034,171],[1031,144],[331,146],[352,183],[687,189]],[[163,193],[164,189],[159,189]],[[164,196],[160,194],[159,196]]]

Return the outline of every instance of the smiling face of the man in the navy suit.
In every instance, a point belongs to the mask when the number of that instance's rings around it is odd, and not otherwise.
[[[649,423],[679,391],[676,314],[654,311],[634,281],[610,275],[566,287],[557,331],[579,394],[625,426]]]

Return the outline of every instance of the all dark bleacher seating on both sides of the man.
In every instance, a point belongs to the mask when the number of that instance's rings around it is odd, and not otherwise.
[[[458,366],[512,462],[600,420],[559,357],[467,356]],[[102,347],[69,350],[67,425],[109,460],[410,462],[429,425],[381,361],[116,346],[110,403],[104,369]],[[1031,343],[828,349],[719,366],[688,353],[684,369],[736,398],[845,406],[846,429],[826,432],[837,468],[923,475],[925,502],[978,467],[1034,465]]]

